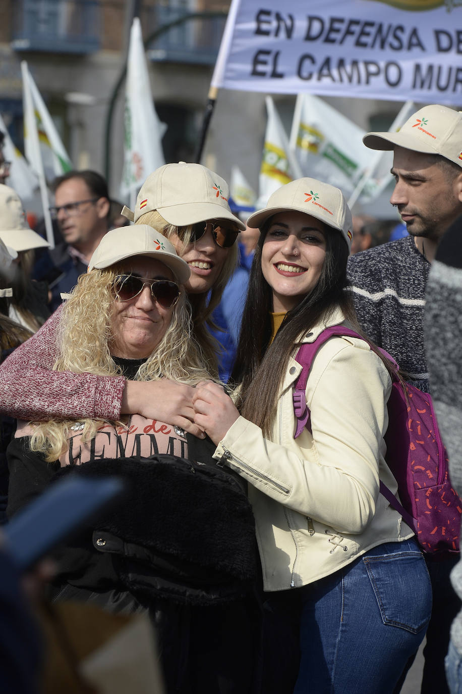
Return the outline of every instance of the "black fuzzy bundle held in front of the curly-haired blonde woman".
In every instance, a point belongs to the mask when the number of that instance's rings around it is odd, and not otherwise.
[[[93,546],[114,556],[126,589],[189,604],[236,600],[256,582],[246,485],[192,448],[191,459],[100,459],[75,466],[71,474],[125,480],[123,501],[98,518]]]

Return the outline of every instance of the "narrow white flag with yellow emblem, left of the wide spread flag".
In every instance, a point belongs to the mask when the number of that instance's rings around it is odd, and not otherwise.
[[[303,175],[290,151],[289,140],[271,96],[266,97],[267,126],[260,168],[256,208],[264,208],[268,198],[281,185]]]

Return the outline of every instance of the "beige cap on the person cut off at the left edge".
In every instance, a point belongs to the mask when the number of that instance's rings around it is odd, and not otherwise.
[[[50,245],[28,225],[17,192],[3,184],[0,184],[0,239],[17,253]]]

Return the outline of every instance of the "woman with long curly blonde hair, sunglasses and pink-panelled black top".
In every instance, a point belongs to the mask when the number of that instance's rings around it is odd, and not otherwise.
[[[210,375],[191,335],[190,268],[151,226],[132,227],[128,245],[117,228],[96,248],[63,307],[53,369],[194,387]],[[208,443],[140,414],[19,422],[7,451],[7,514],[62,475],[121,477],[123,504],[60,552],[53,598],[148,613],[169,693],[250,694],[253,514],[245,486],[216,470]],[[246,642],[238,667],[236,638]]]

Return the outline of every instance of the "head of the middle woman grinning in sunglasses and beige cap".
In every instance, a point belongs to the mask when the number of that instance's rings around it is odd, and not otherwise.
[[[216,369],[217,343],[211,315],[236,267],[238,232],[245,230],[230,210],[229,188],[201,164],[166,164],[146,179],[134,212],[122,214],[135,224],[150,224],[165,234],[190,266],[186,285],[193,308],[194,332],[209,368]]]

